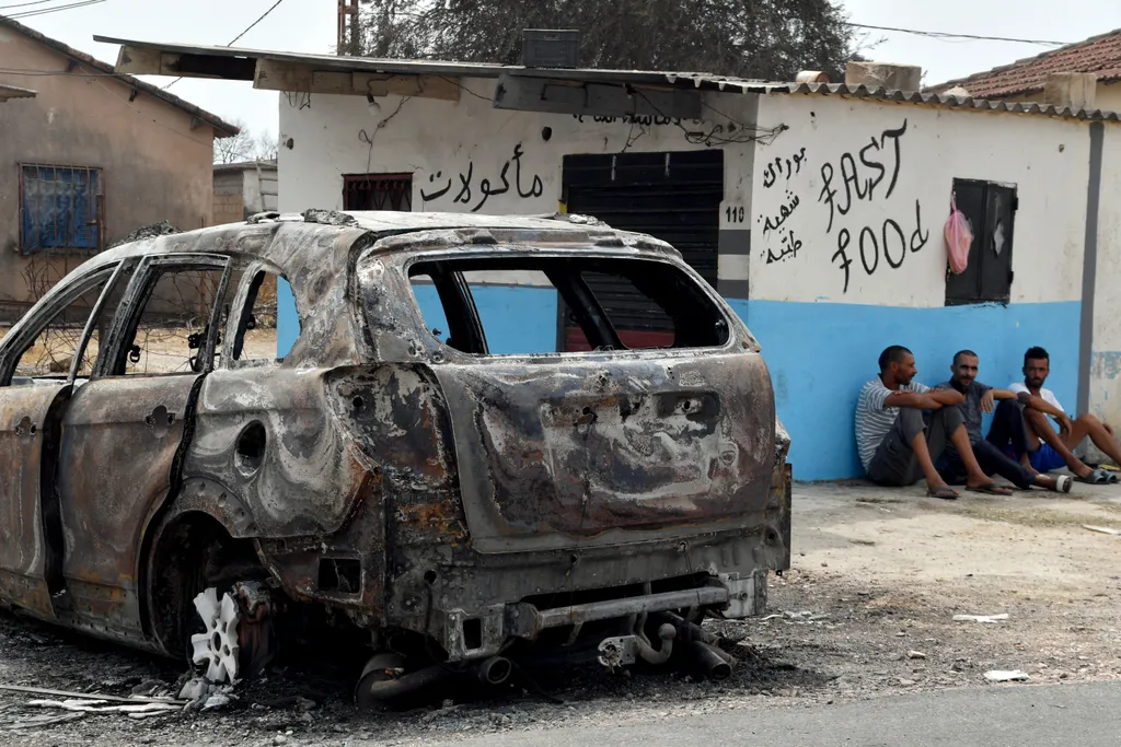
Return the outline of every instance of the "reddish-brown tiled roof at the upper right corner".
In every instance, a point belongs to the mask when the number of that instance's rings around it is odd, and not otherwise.
[[[1121,80],[1121,29],[984,73],[946,81],[930,90],[946,91],[962,86],[973,96],[1012,96],[1043,91],[1049,73],[1094,73],[1099,81]]]

